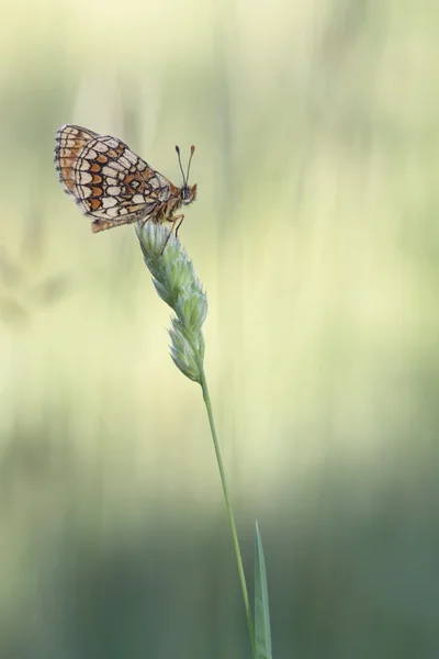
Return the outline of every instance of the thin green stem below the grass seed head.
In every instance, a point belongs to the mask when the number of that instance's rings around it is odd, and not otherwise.
[[[227,480],[226,480],[226,474],[224,471],[223,458],[221,457],[218,437],[216,435],[216,429],[215,429],[215,422],[213,418],[211,396],[209,394],[207,382],[205,379],[204,368],[202,365],[200,366],[200,384],[203,390],[203,399],[204,399],[204,403],[205,403],[205,406],[207,410],[209,423],[211,426],[212,439],[213,439],[213,445],[214,445],[215,455],[216,455],[216,461],[218,463],[221,482],[223,484],[223,492],[224,492],[224,499],[226,502],[228,522],[230,524],[232,537],[233,537],[233,543],[234,543],[234,547],[235,547],[236,562],[238,565],[239,581],[240,581],[240,588],[243,591],[244,605],[246,607],[246,613],[247,613],[247,624],[248,624],[248,632],[250,634],[251,649],[252,649],[254,657],[256,659],[254,618],[251,617],[251,608],[250,608],[250,602],[248,599],[247,583],[246,583],[246,577],[244,573],[244,566],[243,566],[243,558],[241,558],[240,549],[239,549],[238,534],[236,532],[235,517],[233,514],[230,500],[228,498]]]

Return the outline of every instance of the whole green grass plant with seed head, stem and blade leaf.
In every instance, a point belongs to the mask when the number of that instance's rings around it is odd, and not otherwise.
[[[137,236],[145,264],[153,275],[153,283],[156,291],[176,314],[171,320],[171,328],[169,331],[171,337],[171,357],[181,372],[189,379],[198,382],[203,392],[221,482],[223,485],[228,522],[232,529],[252,655],[255,659],[271,659],[270,616],[262,541],[258,524],[256,524],[254,625],[238,534],[236,532],[235,517],[228,494],[227,480],[204,373],[204,339],[202,326],[207,314],[206,294],[200,280],[195,276],[192,261],[188,257],[179,239],[175,235],[169,235],[169,228],[160,223],[139,222],[137,224]]]

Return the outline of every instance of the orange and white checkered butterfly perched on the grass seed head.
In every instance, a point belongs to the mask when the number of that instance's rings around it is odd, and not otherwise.
[[[184,215],[175,213],[195,200],[196,185],[188,186],[195,147],[191,147],[185,176],[178,146],[176,150],[183,177],[181,188],[153,169],[121,139],[66,124],[56,134],[55,167],[65,191],[91,217],[93,233],[151,220],[171,222],[177,235]]]

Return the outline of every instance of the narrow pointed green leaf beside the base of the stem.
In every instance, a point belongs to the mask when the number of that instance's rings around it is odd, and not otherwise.
[[[255,536],[255,640],[256,659],[272,659],[266,559],[258,522]]]

